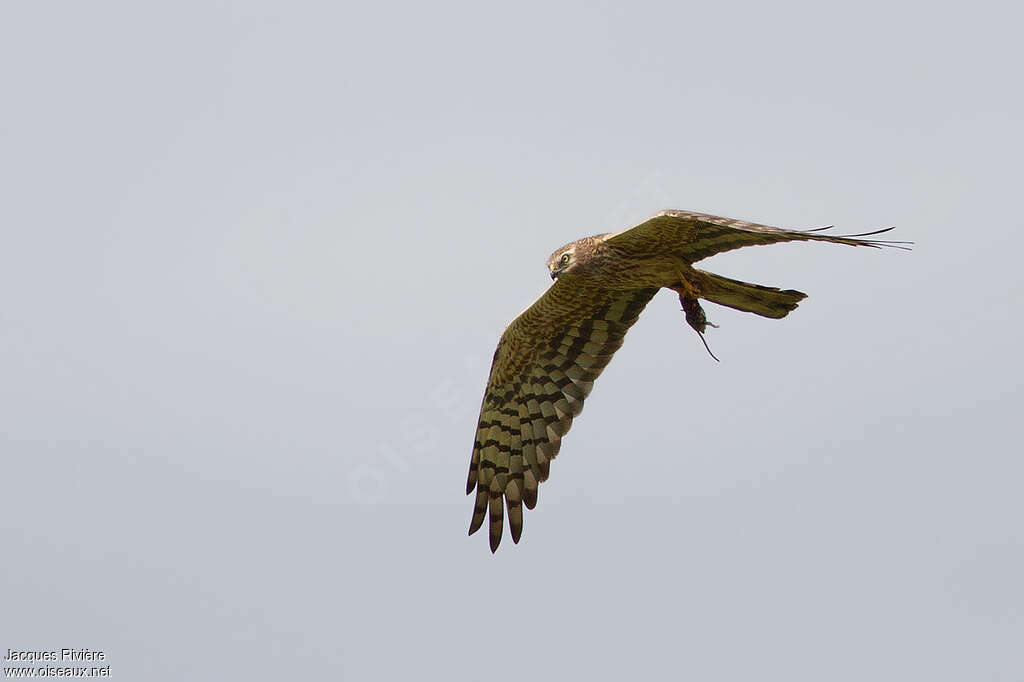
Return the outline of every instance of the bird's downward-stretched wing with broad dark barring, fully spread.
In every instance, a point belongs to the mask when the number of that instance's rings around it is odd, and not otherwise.
[[[512,541],[522,534],[522,505],[538,485],[572,418],[623,345],[656,288],[606,291],[561,278],[505,330],[495,351],[473,443],[466,494],[476,489],[469,534],[490,517],[490,551],[508,509]]]

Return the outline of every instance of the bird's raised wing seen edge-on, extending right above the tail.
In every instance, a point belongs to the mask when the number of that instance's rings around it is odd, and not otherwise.
[[[861,235],[823,235],[811,230],[780,229],[744,220],[733,220],[689,211],[662,211],[636,227],[612,235],[605,244],[634,255],[678,253],[687,262],[745,246],[777,242],[833,242],[850,246],[906,248],[907,242],[858,239],[888,232],[892,227]]]

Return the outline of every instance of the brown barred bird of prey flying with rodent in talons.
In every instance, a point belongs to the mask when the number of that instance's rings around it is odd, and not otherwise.
[[[713,325],[700,299],[777,319],[807,297],[706,272],[693,263],[776,242],[876,248],[907,244],[859,239],[892,227],[848,236],[824,235],[822,229],[827,228],[779,229],[662,211],[626,231],[586,237],[551,254],[548,270],[555,283],[509,324],[495,351],[466,483],[467,495],[476,489],[469,535],[489,516],[490,551],[496,551],[507,510],[512,541],[519,542],[522,506],[537,504],[538,485],[548,478],[572,418],[658,289],[679,294],[686,322],[701,340]]]

